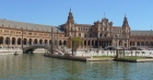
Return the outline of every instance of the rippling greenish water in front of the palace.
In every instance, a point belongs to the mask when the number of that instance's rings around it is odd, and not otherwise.
[[[0,80],[152,80],[153,62],[74,61],[0,55]]]

